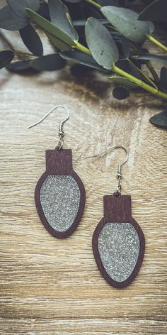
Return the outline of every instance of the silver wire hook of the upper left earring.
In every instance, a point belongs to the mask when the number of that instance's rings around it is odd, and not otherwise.
[[[33,128],[34,126],[37,126],[39,123],[41,123],[43,120],[45,120],[47,118],[47,116],[49,116],[52,113],[52,111],[54,111],[57,108],[62,108],[62,109],[64,109],[67,112],[67,116],[65,117],[65,119],[59,123],[59,133],[58,133],[58,135],[59,135],[59,143],[58,143],[57,150],[60,150],[60,149],[62,149],[62,145],[64,143],[64,139],[63,139],[64,138],[63,125],[69,119],[69,109],[67,109],[66,106],[63,106],[63,105],[54,106],[50,111],[48,111],[47,114],[45,114],[45,116],[42,117],[42,119],[40,119],[40,121],[38,121],[36,123],[33,123],[31,126],[28,127],[28,129]]]

